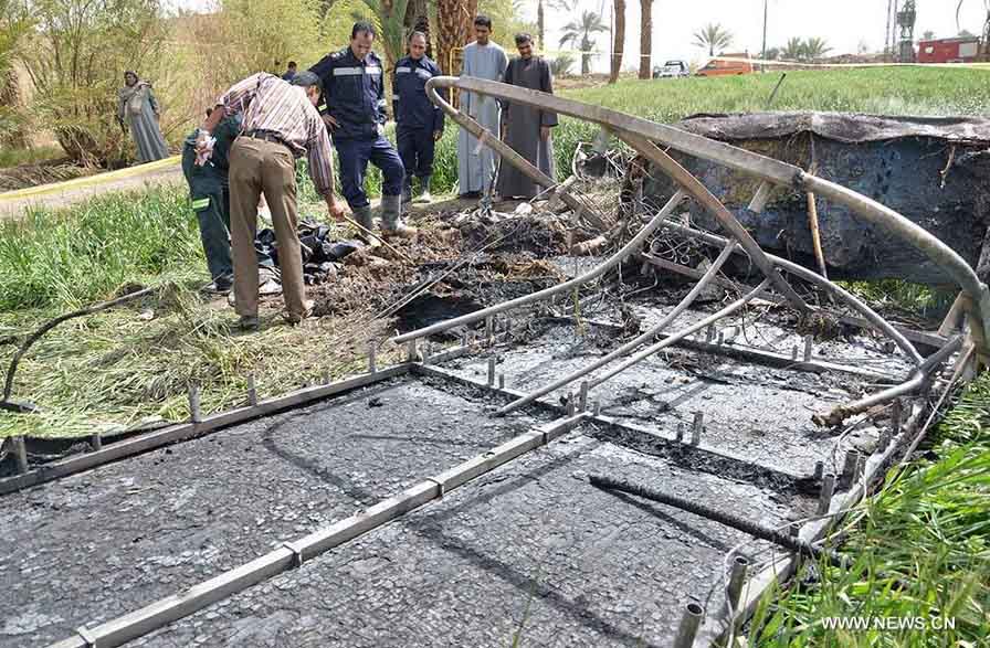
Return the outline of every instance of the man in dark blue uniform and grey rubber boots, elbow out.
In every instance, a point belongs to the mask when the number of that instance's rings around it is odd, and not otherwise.
[[[371,230],[371,206],[365,193],[368,162],[381,169],[381,231],[411,236],[415,230],[400,220],[406,169],[394,147],[385,137],[386,100],[381,59],[371,51],[375,28],[357,22],[350,46],[324,56],[310,70],[324,84],[325,102],[319,106],[330,129],[344,198],[357,222]]]

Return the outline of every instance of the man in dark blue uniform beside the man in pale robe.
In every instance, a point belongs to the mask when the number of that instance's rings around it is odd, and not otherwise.
[[[396,63],[392,76],[392,113],[396,116],[396,139],[399,157],[406,167],[404,201],[412,200],[412,177],[420,179],[417,202],[430,202],[430,177],[433,174],[433,152],[443,135],[443,110],[426,97],[425,85],[440,68],[426,57],[426,34],[412,32],[409,56]]]

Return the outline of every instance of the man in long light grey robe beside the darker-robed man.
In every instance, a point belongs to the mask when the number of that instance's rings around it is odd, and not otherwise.
[[[492,21],[478,14],[474,19],[475,41],[464,47],[461,76],[502,81],[508,59],[505,50],[493,43]],[[492,97],[461,93],[461,110],[498,136],[499,106]],[[461,198],[480,198],[487,192],[495,174],[495,151],[482,145],[463,128],[457,139],[457,187]]]

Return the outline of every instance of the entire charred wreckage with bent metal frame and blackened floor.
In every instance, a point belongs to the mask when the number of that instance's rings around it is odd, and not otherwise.
[[[119,565],[109,554],[123,550],[61,560],[54,534],[9,531],[8,545],[21,553],[0,563],[13,583],[8,596],[36,601],[6,619],[0,644],[67,634],[52,645],[493,645],[518,631],[545,645],[728,645],[800,561],[844,564],[826,542],[836,520],[912,454],[952,387],[987,363],[984,120],[773,114],[696,116],[673,127],[475,78],[436,77],[426,88],[503,164],[546,189],[546,210],[568,214],[582,241],[560,261],[567,280],[394,336],[388,342],[404,349],[399,364],[379,367],[377,342],[367,370],[340,382],[260,401],[249,381],[242,407],[210,415],[191,389],[188,422],[107,444],[94,435],[87,452],[51,463],[32,465],[23,439],[12,440],[0,518],[13,522],[12,498],[22,497],[39,528],[57,530],[119,514],[52,508],[64,497],[99,497],[81,496],[73,479],[88,475],[91,490],[110,492],[115,480],[143,475],[137,464],[122,466],[157,457],[146,465],[155,474],[157,463],[177,461],[173,475],[135,496],[157,510],[179,488],[170,479],[189,488],[208,478],[190,467],[203,458],[162,457],[166,446],[236,445],[262,434],[267,418],[275,427],[325,421],[317,429],[334,433],[310,429],[295,442],[280,433],[259,444],[270,450],[259,465],[291,459],[305,475],[286,484],[306,482],[299,492],[278,487],[253,503],[228,502],[271,518],[257,523],[270,551],[231,566],[223,546],[257,552],[246,538],[179,553],[185,535],[152,528],[145,542],[162,545],[148,555],[180,557],[168,569],[160,556],[128,559],[157,574],[130,602],[106,586],[112,575],[103,587],[91,584]],[[557,183],[440,88],[555,110],[633,152],[599,146],[586,155],[582,145],[575,173]],[[615,213],[578,189],[596,182],[589,176],[622,182]],[[613,299],[610,287],[636,270],[654,286],[680,277],[683,290]],[[958,296],[937,332],[919,331],[888,321],[829,274],[904,278]],[[355,417],[358,402],[368,408]],[[306,423],[293,418],[298,412]],[[347,412],[347,431],[328,423]],[[390,453],[378,464],[375,439]],[[296,442],[324,445],[302,457],[289,447]],[[358,454],[345,466],[335,453]],[[134,458],[118,461],[125,457]],[[273,464],[272,475],[284,469]],[[383,477],[360,477],[376,470]],[[250,469],[231,472],[224,490],[236,490],[241,472]],[[254,487],[243,484],[245,492]],[[307,499],[317,488],[330,490]],[[333,514],[310,516],[309,532],[292,538],[295,527],[280,524],[296,513],[271,512],[286,502]],[[544,557],[530,560],[537,553]],[[50,566],[38,565],[41,554]],[[219,573],[201,581],[203,570]],[[339,581],[320,584],[327,573]],[[87,603],[64,610],[45,602],[46,583],[62,580]],[[307,586],[316,593],[299,593]],[[399,603],[397,592],[412,598]],[[474,602],[487,614],[474,614]],[[337,620],[303,612],[320,605]]]

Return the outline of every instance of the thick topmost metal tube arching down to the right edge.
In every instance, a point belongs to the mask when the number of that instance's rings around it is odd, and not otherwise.
[[[607,126],[613,130],[626,131],[635,137],[644,137],[662,142],[691,156],[710,160],[777,184],[813,191],[815,194],[845,204],[866,221],[883,227],[898,238],[905,240],[940,267],[944,267],[959,283],[960,287],[972,297],[973,304],[977,305],[980,312],[983,329],[990,331],[990,289],[979,280],[976,272],[962,257],[894,210],[834,182],[805,173],[799,167],[602,106],[592,106],[573,99],[566,99],[556,95],[494,81],[474,77],[435,76],[426,83],[426,87],[459,87],[473,93],[495,95],[526,106],[578,117]]]

